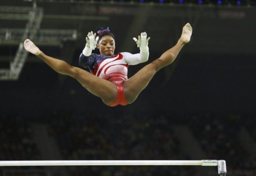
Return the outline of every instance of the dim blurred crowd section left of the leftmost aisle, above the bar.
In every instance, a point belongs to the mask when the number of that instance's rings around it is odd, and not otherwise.
[[[40,154],[33,140],[31,124],[23,117],[0,116],[0,159],[38,160]]]

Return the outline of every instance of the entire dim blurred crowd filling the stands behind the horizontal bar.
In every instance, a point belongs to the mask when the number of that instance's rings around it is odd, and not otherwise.
[[[250,116],[251,119],[253,116]],[[181,149],[173,125],[188,126],[209,159],[225,159],[232,170],[256,168],[255,158],[241,145],[241,128],[255,142],[249,117],[240,115],[133,114],[93,115],[54,112],[41,123],[48,126],[65,160],[191,160]],[[37,123],[40,121],[37,119]],[[1,160],[40,160],[33,140],[33,119],[1,116]],[[161,168],[160,168],[161,167]],[[68,175],[195,175],[195,167],[110,166],[67,167]]]

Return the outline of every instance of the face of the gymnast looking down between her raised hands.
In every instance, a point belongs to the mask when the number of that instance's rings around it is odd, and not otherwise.
[[[100,50],[101,55],[111,56],[115,52],[115,40],[111,36],[103,36],[98,44],[97,48]]]

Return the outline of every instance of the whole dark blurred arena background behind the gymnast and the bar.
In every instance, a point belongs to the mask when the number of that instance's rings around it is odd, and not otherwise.
[[[190,43],[125,107],[107,107],[22,46],[30,38],[78,66],[89,31],[110,27],[116,53],[138,53],[132,38],[146,31],[149,63],[187,22]],[[1,0],[0,160],[224,159],[230,175],[256,175],[255,31],[254,0]],[[128,77],[146,64],[130,66]],[[1,167],[0,175],[217,175],[217,168]]]

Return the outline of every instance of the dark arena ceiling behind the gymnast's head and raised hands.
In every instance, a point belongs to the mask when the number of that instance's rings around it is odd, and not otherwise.
[[[176,43],[182,26],[189,22],[193,36],[187,52],[215,54],[255,54],[255,8],[198,5],[152,5],[137,3],[92,3],[91,1],[38,1],[43,9],[41,30],[75,30],[75,47],[83,48],[85,36],[98,27],[107,27],[116,35],[118,51],[136,52],[132,40],[146,31],[151,37],[149,47],[153,53],[162,52]],[[0,4],[13,7],[31,7],[30,1],[7,1]],[[25,19],[4,19],[0,29],[24,29]],[[1,47],[8,46],[1,33]],[[44,36],[41,36],[43,40]],[[8,40],[8,39],[7,39]],[[65,41],[65,38],[63,39]],[[17,39],[17,43],[19,43]],[[40,43],[40,41],[39,41]],[[17,44],[14,44],[17,45]],[[40,45],[51,46],[41,42]],[[54,46],[54,41],[52,41]],[[46,47],[47,48],[47,47]],[[1,54],[2,55],[2,54]]]

